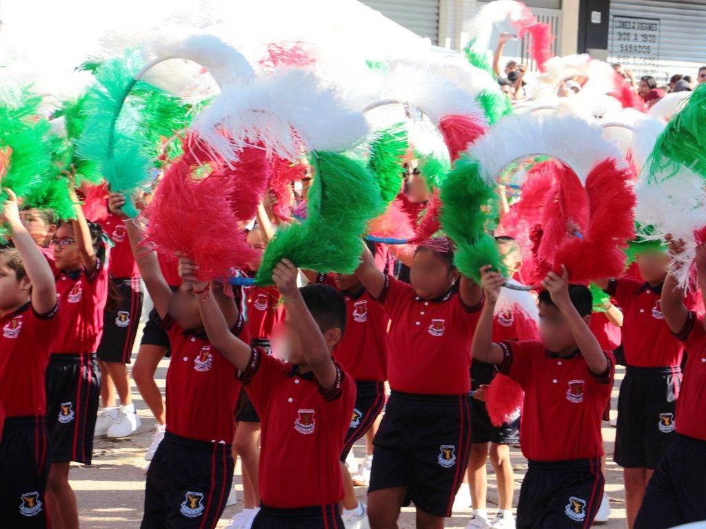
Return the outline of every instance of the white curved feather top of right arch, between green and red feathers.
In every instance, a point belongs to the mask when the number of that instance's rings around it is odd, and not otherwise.
[[[537,154],[565,162],[585,184],[599,162],[612,158],[625,163],[618,147],[606,142],[602,135],[599,126],[575,116],[525,113],[501,118],[467,152],[479,160],[481,175],[489,184],[508,164]]]

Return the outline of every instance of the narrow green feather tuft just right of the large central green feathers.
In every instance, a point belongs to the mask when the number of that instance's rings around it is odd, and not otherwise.
[[[368,166],[377,176],[383,210],[395,200],[402,188],[402,157],[407,154],[407,130],[397,123],[378,134],[370,145]]]

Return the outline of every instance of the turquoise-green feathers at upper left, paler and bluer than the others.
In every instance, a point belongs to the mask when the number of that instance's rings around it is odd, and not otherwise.
[[[131,197],[134,190],[150,181],[152,159],[138,128],[138,112],[126,101],[136,84],[142,61],[136,52],[111,59],[95,71],[96,85],[90,88],[85,109],[90,118],[78,140],[80,157],[96,162],[113,191]],[[131,200],[124,212],[136,217]]]

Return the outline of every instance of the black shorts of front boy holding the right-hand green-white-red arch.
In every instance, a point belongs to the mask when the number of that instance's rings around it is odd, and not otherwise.
[[[517,529],[589,528],[603,499],[600,458],[528,461]]]

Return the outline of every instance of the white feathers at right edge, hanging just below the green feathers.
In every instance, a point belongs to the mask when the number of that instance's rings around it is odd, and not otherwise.
[[[641,234],[645,239],[662,241],[670,233],[686,243],[683,253],[672,258],[669,268],[679,284],[688,288],[690,267],[696,256],[694,231],[706,226],[706,188],[702,178],[681,167],[677,174],[658,174],[650,179],[647,169],[643,169],[635,194],[635,221],[653,227],[650,233]]]

